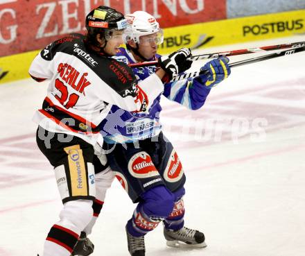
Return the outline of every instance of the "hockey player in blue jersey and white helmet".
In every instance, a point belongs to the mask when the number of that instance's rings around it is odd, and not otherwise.
[[[130,28],[124,33],[127,49],[121,48],[116,60],[127,64],[162,60],[164,57],[157,55],[157,45],[162,43],[163,33],[156,19],[143,11],[126,15],[126,18],[130,22]],[[202,67],[209,71],[207,75],[165,83],[163,96],[198,110],[204,105],[211,87],[229,76],[227,62],[227,58],[211,60]],[[191,67],[191,62],[187,65]],[[134,68],[134,74],[143,80],[156,70],[156,67]],[[101,123],[110,167],[132,201],[138,203],[125,227],[132,256],[145,255],[144,236],[161,221],[168,246],[206,246],[202,232],[184,226],[186,178],[175,149],[162,133],[161,96],[141,112],[128,112],[114,105]]]

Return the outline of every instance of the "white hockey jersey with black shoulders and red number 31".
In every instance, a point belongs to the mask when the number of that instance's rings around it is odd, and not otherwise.
[[[46,130],[95,144],[98,124],[112,105],[145,112],[164,86],[155,74],[137,84],[132,69],[87,48],[84,40],[84,35],[71,34],[46,46],[33,60],[30,76],[50,80],[42,109],[33,119]]]

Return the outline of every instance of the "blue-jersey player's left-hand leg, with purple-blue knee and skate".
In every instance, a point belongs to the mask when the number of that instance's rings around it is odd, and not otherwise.
[[[150,155],[141,145],[116,145],[108,155],[110,167],[134,203],[139,202],[125,229],[132,256],[145,255],[144,236],[173,210],[173,194],[166,189]]]

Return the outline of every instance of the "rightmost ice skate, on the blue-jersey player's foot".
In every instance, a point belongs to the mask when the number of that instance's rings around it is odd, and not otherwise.
[[[171,247],[207,247],[202,232],[191,230],[186,227],[177,231],[167,230],[164,228],[164,237],[167,240],[166,245]]]

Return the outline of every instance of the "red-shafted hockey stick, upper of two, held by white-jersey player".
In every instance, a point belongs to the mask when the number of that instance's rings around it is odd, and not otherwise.
[[[294,42],[290,44],[275,44],[270,46],[262,46],[256,48],[249,48],[249,49],[241,49],[241,50],[234,50],[234,51],[222,51],[220,53],[207,53],[207,54],[200,54],[191,56],[188,60],[206,60],[211,58],[219,58],[224,56],[236,56],[248,53],[258,53],[260,51],[274,51],[274,50],[281,50],[281,49],[288,49],[288,48],[297,48],[305,46],[305,42]],[[130,63],[129,67],[148,67],[148,66],[155,66],[157,65],[157,60],[147,61],[147,62],[138,62],[138,63]]]

